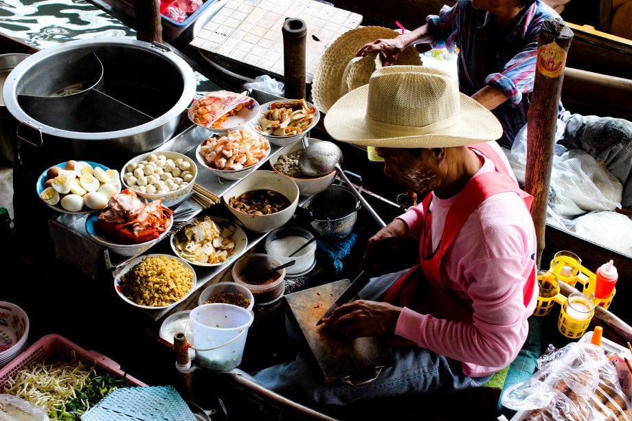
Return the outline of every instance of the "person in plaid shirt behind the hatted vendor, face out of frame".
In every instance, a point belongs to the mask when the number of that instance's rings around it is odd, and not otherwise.
[[[381,38],[361,47],[357,56],[381,52],[392,65],[402,52],[420,43],[459,48],[460,90],[491,110],[503,126],[499,144],[511,148],[526,126],[535,78],[542,24],[560,16],[541,0],[460,0],[425,25],[396,38]],[[632,122],[621,118],[579,115],[559,106],[559,144],[603,161],[621,181],[622,209],[632,218]]]

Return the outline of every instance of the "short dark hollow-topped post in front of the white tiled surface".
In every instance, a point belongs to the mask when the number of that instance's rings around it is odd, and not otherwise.
[[[283,22],[283,68],[285,98],[305,98],[305,45],[307,26],[302,19]]]

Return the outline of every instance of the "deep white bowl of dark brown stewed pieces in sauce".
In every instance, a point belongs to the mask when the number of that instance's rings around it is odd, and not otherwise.
[[[258,170],[229,187],[223,201],[250,231],[264,233],[287,223],[298,205],[299,190],[289,177]]]

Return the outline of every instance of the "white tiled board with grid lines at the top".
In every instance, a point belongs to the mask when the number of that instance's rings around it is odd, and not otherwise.
[[[315,0],[231,0],[196,34],[190,45],[282,79],[281,30],[286,18],[305,22],[308,84],[326,47],[362,21],[361,14]]]

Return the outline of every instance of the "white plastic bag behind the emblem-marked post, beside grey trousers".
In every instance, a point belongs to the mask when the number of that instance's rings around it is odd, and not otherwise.
[[[565,124],[558,120],[556,141],[564,133]],[[516,136],[507,158],[520,183],[526,172],[527,126]],[[621,182],[604,166],[582,150],[566,150],[556,144],[551,170],[549,203],[552,212],[561,218],[592,211],[607,211],[621,207]]]

